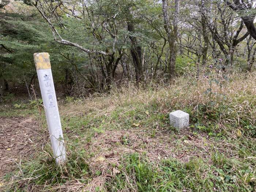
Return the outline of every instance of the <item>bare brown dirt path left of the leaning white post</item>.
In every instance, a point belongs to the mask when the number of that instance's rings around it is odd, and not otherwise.
[[[47,137],[31,117],[0,117],[0,178],[16,169],[22,159],[33,158]]]

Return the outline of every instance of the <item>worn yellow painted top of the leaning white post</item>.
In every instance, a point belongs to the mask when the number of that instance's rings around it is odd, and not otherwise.
[[[51,68],[49,53],[34,53],[34,61],[37,70]]]

